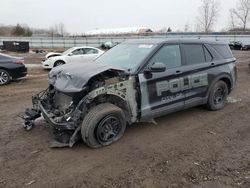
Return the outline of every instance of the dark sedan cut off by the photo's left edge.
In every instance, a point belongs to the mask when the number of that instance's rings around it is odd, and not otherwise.
[[[0,86],[8,84],[11,80],[25,77],[26,74],[27,68],[23,58],[0,53]]]

